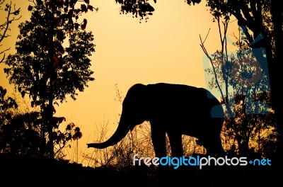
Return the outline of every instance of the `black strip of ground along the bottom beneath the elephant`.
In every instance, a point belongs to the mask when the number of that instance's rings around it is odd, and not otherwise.
[[[272,166],[207,166],[154,169],[133,166],[92,168],[66,160],[0,155],[1,186],[278,186],[280,172]]]

